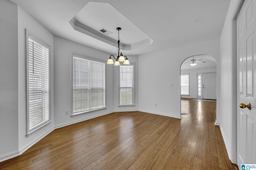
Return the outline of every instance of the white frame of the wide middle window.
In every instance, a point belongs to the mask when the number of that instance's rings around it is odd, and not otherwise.
[[[100,108],[96,108],[96,109],[86,109],[86,110],[83,110],[83,111],[79,111],[79,112],[75,112],[74,113],[74,98],[73,98],[73,95],[74,95],[74,80],[73,80],[73,76],[74,76],[74,57],[76,58],[80,58],[80,59],[84,59],[85,61],[92,61],[92,62],[98,62],[98,63],[102,63],[103,66],[104,66],[104,101],[103,101],[103,106],[100,107]],[[99,111],[101,109],[106,109],[106,64],[105,64],[105,61],[100,61],[100,60],[97,60],[97,59],[93,59],[93,58],[90,58],[90,57],[87,57],[87,56],[83,56],[83,55],[76,55],[76,54],[72,54],[72,62],[71,62],[71,72],[72,72],[72,75],[71,75],[71,117],[76,117],[76,116],[79,116],[79,115],[84,115],[84,114],[87,114],[87,113],[90,113],[90,112],[94,112],[94,111]],[[89,96],[90,98],[91,96]],[[90,103],[91,100],[88,101],[88,103]]]

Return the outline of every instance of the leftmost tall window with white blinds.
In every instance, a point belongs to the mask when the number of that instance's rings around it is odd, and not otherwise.
[[[28,35],[27,135],[49,121],[49,51],[49,46]]]

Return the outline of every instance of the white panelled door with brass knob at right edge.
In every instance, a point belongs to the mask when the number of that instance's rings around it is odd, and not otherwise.
[[[245,0],[237,22],[237,164],[256,164],[256,0]],[[239,105],[251,104],[251,110]]]

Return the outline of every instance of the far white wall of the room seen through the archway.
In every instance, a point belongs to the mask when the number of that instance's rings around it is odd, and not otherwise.
[[[197,98],[197,74],[199,73],[210,73],[210,72],[217,72],[217,68],[200,68],[200,69],[190,69],[190,70],[180,70],[181,74],[188,74],[189,73],[189,80],[190,80],[190,95],[181,95],[181,98]]]

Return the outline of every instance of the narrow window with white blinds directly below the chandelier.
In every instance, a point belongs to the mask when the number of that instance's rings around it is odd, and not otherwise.
[[[119,104],[134,105],[134,72],[133,64],[120,65]]]

